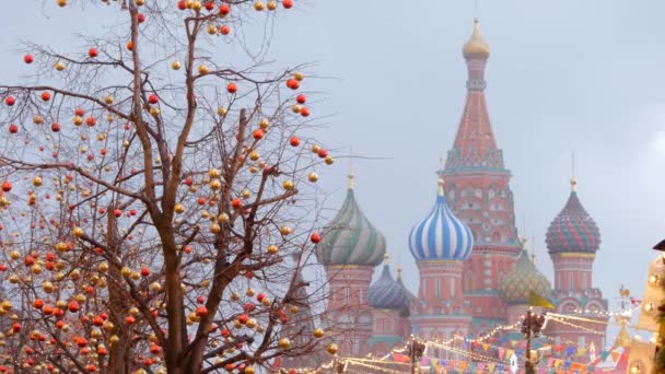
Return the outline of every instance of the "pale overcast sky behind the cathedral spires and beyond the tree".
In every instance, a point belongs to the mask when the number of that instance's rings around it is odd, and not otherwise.
[[[74,32],[96,32],[109,14],[54,3],[14,1],[0,12],[0,82],[23,72],[11,50],[19,39],[71,47]],[[331,116],[319,135],[329,148],[389,157],[354,162],[357,197],[409,288],[418,272],[407,235],[434,203],[434,171],[465,100],[460,49],[478,16],[491,46],[490,118],[539,268],[551,279],[545,232],[568,198],[574,151],[580,197],[602,232],[594,283],[610,303],[621,283],[642,294],[650,248],[665,237],[664,1],[294,3],[279,16],[269,57],[317,62],[310,84],[325,101],[313,110]],[[319,173],[330,208],[343,199],[347,167]]]

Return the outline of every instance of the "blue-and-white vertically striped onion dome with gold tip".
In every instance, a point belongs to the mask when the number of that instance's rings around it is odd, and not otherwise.
[[[439,179],[434,208],[409,234],[409,249],[417,261],[464,261],[471,255],[471,230],[455,217],[443,195],[443,179]]]

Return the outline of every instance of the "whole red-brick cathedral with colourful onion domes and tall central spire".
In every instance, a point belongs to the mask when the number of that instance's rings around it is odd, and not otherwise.
[[[552,220],[546,244],[555,268],[553,287],[529,256],[515,226],[511,172],[490,125],[485,68],[490,47],[478,21],[463,47],[468,68],[466,104],[455,141],[432,183],[433,207],[411,229],[408,247],[420,282],[412,294],[386,256],[386,241],[361,210],[353,175],[341,209],[328,224],[317,257],[328,278],[327,322],[339,331],[340,354],[359,357],[401,348],[412,334],[422,339],[475,337],[520,322],[529,290],[549,299],[556,313],[585,317],[586,328],[549,322],[545,334],[578,347],[605,347],[594,320],[607,300],[593,284],[593,262],[600,244],[594,220],[583,208],[576,180]],[[425,207],[423,207],[423,210]],[[372,283],[376,267],[381,276]],[[583,311],[582,314],[579,314]],[[586,315],[584,315],[586,313]]]

